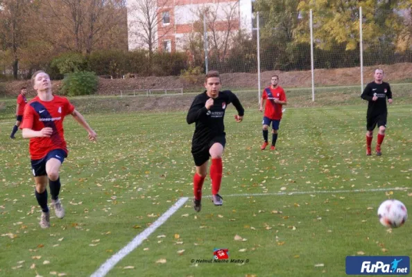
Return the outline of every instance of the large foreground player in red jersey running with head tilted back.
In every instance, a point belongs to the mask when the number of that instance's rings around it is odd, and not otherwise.
[[[42,207],[40,226],[44,229],[50,226],[47,181],[49,181],[51,204],[55,215],[58,218],[65,216],[65,210],[58,199],[59,170],[68,154],[63,130],[65,116],[71,114],[87,130],[90,141],[96,140],[97,135],[67,98],[53,95],[47,73],[36,71],[31,80],[37,96],[28,102],[24,109],[24,119],[20,129],[23,130],[24,139],[30,139],[35,197]]]

